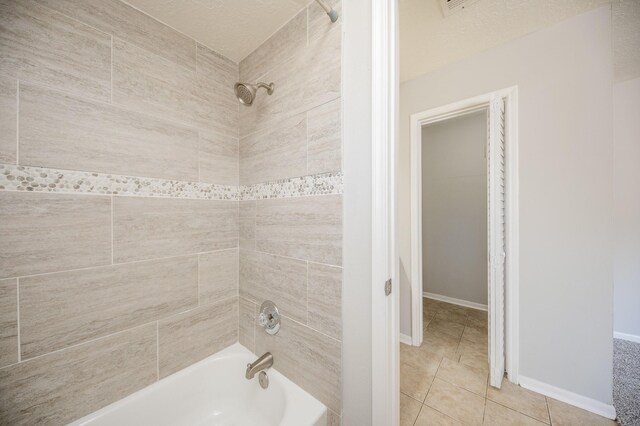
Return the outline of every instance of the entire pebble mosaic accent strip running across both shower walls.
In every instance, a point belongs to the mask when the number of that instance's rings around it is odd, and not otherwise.
[[[322,173],[237,187],[203,182],[0,164],[0,191],[59,192],[205,200],[259,200],[342,194],[342,177],[342,173]]]

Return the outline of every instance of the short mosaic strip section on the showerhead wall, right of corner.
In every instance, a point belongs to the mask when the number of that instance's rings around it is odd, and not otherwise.
[[[342,194],[342,173],[322,173],[240,186],[241,200]]]

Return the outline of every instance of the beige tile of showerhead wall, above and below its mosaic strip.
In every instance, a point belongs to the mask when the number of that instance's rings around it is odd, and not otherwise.
[[[340,11],[340,4],[333,2]],[[240,62],[242,81],[275,83],[251,108],[240,108],[240,184],[296,176],[340,176],[340,21],[311,3]],[[240,342],[330,409],[342,412],[341,189],[324,195],[240,201]],[[273,300],[282,328],[256,325]]]

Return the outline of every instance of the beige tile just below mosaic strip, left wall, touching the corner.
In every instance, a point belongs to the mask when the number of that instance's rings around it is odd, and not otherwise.
[[[115,262],[237,247],[238,203],[114,197]]]

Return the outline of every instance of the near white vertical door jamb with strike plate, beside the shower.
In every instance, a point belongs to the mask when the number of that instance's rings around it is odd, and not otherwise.
[[[400,328],[395,162],[398,141],[397,0],[372,1],[372,424],[400,422]],[[392,291],[385,295],[385,282]]]

